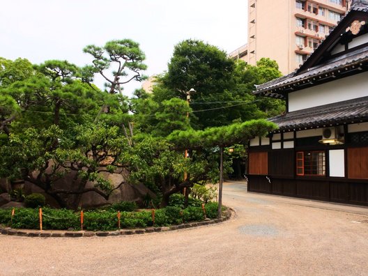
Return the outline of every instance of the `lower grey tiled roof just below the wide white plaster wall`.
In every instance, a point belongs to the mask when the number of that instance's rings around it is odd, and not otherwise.
[[[279,130],[300,130],[340,123],[368,121],[368,97],[302,109],[269,118]]]

